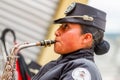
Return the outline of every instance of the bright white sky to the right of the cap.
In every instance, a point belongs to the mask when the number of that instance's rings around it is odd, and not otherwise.
[[[120,0],[89,0],[88,5],[107,13],[106,33],[120,34]]]

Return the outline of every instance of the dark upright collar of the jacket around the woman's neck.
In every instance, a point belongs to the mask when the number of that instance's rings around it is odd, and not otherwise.
[[[75,60],[75,59],[80,59],[80,58],[86,58],[88,60],[91,60],[94,62],[94,51],[92,49],[80,49],[74,52],[71,52],[69,54],[61,55],[57,62],[58,63],[64,63],[67,61]]]

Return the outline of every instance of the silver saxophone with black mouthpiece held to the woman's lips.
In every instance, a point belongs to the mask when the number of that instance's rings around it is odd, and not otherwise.
[[[15,45],[10,55],[7,56],[7,61],[5,63],[5,67],[3,70],[3,74],[0,80],[17,80],[17,73],[16,73],[16,59],[18,58],[17,53],[24,48],[33,47],[33,46],[50,46],[54,44],[54,40],[43,40],[36,43],[26,43],[22,45]]]

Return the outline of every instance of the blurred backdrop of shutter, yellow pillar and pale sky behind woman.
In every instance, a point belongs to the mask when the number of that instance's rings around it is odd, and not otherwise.
[[[95,55],[95,60],[103,80],[120,80],[119,0],[0,0],[0,36],[4,29],[10,28],[15,31],[17,43],[54,39],[54,31],[58,27],[52,24],[53,20],[63,17],[66,7],[73,1],[91,5],[107,13],[105,39],[110,43],[110,51],[105,55]],[[8,52],[13,47],[12,40],[11,33],[8,33]],[[0,43],[0,48],[2,46]],[[3,53],[1,49],[0,53]],[[53,46],[31,47],[21,50],[21,54],[26,63],[35,61],[40,65],[59,57],[54,53]]]

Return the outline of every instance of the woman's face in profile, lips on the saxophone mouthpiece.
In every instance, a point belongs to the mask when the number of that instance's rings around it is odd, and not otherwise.
[[[58,54],[68,54],[83,48],[83,34],[79,24],[64,23],[55,32],[54,50]]]

